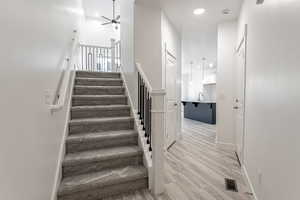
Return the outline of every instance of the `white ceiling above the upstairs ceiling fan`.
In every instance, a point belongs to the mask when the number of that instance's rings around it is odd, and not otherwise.
[[[120,14],[120,1],[116,0],[116,16]],[[104,21],[101,16],[112,18],[112,0],[83,0],[85,16]],[[98,17],[97,17],[98,16]]]

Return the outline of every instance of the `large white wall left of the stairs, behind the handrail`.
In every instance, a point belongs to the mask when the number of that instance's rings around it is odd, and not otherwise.
[[[66,108],[51,115],[80,1],[10,0],[0,8],[0,199],[49,200]]]

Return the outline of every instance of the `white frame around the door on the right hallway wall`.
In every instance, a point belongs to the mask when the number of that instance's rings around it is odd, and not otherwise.
[[[242,39],[240,40],[240,42],[238,43],[238,47],[236,49],[236,53],[238,53],[241,49],[241,47],[244,45],[245,47],[245,63],[244,63],[244,102],[243,102],[243,128],[242,128],[242,149],[241,149],[241,156],[238,157],[239,159],[239,162],[241,165],[244,164],[244,153],[245,153],[245,123],[246,123],[246,81],[247,81],[247,34],[248,34],[248,25],[245,24],[245,27],[244,27],[244,34],[243,34],[243,37]],[[236,107],[234,107],[236,108]],[[236,128],[236,126],[235,126]],[[237,145],[237,141],[236,141],[236,145]],[[237,149],[238,151],[238,149]],[[238,153],[237,153],[237,156],[238,156]]]

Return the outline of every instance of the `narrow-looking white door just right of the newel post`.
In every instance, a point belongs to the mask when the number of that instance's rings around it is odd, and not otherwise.
[[[170,147],[176,142],[178,116],[176,78],[176,57],[166,50],[166,148]]]

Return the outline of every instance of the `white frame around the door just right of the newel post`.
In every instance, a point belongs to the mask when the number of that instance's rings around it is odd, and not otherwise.
[[[176,79],[177,79],[177,73],[178,73],[178,59],[176,58],[176,56],[175,55],[173,55],[173,53],[171,52],[171,51],[169,51],[168,50],[168,47],[167,47],[167,43],[165,43],[165,45],[164,45],[164,60],[165,60],[165,63],[164,63],[164,84],[165,84],[165,88],[166,88],[166,86],[167,86],[167,57],[168,57],[168,55],[169,56],[171,56],[172,58],[174,58],[174,60],[176,61]],[[177,103],[177,122],[179,121],[179,119],[178,119],[178,109],[180,108],[180,104],[178,103],[179,102],[179,96],[178,96],[178,90],[177,90],[177,84],[175,85],[175,87],[176,87],[176,103]],[[166,104],[167,104],[167,95],[165,96],[165,102],[166,102]],[[166,119],[165,119],[165,123],[167,123],[167,112],[168,112],[168,106],[165,106],[165,113],[166,113],[166,115],[165,115],[165,117],[166,117]],[[165,124],[165,133],[167,133],[167,125]],[[175,141],[171,144],[171,145],[165,145],[165,148],[166,148],[166,150],[168,150],[170,147],[172,147],[172,145],[173,144],[175,144],[176,143],[176,141],[177,141],[177,139],[178,139],[178,126],[176,125],[176,137],[175,137]],[[167,144],[167,141],[165,140],[165,142],[166,142],[166,144]]]

